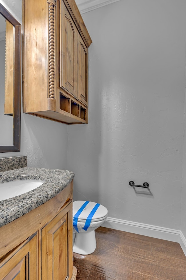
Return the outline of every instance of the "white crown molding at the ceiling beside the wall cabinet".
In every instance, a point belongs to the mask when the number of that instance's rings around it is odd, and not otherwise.
[[[76,4],[81,14],[101,8],[120,0],[76,0]]]

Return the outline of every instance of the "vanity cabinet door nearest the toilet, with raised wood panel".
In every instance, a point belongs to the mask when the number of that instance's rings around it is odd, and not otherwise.
[[[41,279],[71,279],[72,202],[41,229]]]

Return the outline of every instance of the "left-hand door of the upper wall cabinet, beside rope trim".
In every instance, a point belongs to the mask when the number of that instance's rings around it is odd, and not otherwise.
[[[63,1],[60,1],[61,10],[60,87],[77,97],[77,28]]]

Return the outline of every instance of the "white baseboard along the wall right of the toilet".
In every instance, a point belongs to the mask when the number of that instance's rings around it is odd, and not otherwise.
[[[102,226],[105,228],[113,228],[116,230],[178,242],[180,243],[180,246],[186,256],[186,238],[184,237],[181,230],[130,222],[110,217],[107,217],[107,220],[103,223]]]

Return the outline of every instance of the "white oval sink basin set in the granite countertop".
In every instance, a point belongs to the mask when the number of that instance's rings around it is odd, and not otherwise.
[[[44,182],[41,180],[16,180],[11,182],[0,183],[0,201],[20,194],[32,191],[41,186]]]

